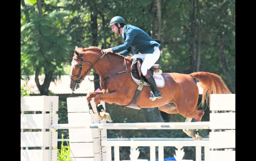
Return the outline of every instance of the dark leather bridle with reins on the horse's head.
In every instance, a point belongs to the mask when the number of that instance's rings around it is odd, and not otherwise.
[[[91,72],[91,69],[94,67],[94,65],[97,64],[97,63],[99,62],[99,60],[100,60],[103,56],[105,56],[105,54],[106,54],[106,53],[103,53],[102,50],[101,50],[101,53],[102,53],[102,56],[101,56],[100,58],[98,58],[98,60],[97,60],[93,65],[92,65],[91,63],[87,62],[87,61],[83,61],[83,58],[82,58],[83,55],[80,54],[80,53],[79,53],[79,56],[78,56],[78,57],[81,57],[81,58],[73,58],[74,60],[81,60],[81,61],[80,61],[80,65],[79,65],[79,73],[78,73],[78,75],[69,75],[70,79],[71,79],[72,81],[74,81],[76,85],[79,85],[79,84],[81,83],[82,79],[84,79],[84,77],[85,77],[86,75],[88,75],[88,73]],[[106,59],[107,59],[107,58],[106,58]],[[108,60],[108,59],[107,59],[107,60]],[[110,56],[109,56],[109,60],[110,60]],[[84,74],[83,76],[81,76],[81,71],[82,71],[83,62],[86,63],[86,64],[89,64],[89,65],[90,65],[90,68],[87,70],[87,72],[85,72],[85,74]],[[77,79],[74,80],[74,79],[72,79],[71,77],[76,77]]]

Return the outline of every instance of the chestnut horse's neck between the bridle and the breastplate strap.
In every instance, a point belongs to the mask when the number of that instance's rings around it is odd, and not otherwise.
[[[99,51],[99,55],[102,55]],[[110,56],[110,60],[109,59]],[[116,54],[109,54],[102,57],[97,64],[94,65],[95,71],[101,76],[102,79],[108,75],[125,70],[124,58]]]

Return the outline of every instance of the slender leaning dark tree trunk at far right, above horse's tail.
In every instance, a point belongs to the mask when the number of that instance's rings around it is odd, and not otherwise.
[[[222,69],[223,72],[226,76],[228,84],[231,86],[231,89],[233,93],[235,93],[235,84],[233,83],[232,79],[230,78],[228,67],[227,67],[227,59],[226,59],[226,54],[224,52],[224,42],[223,42],[223,35],[221,31],[221,27],[218,27],[218,40],[219,40],[219,48],[220,48],[220,58],[221,58],[221,63],[222,63]]]

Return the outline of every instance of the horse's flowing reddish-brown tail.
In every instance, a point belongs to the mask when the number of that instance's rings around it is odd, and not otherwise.
[[[194,72],[189,74],[192,78],[198,79],[200,86],[203,88],[201,105],[206,104],[210,94],[231,94],[227,85],[222,78],[214,73]]]

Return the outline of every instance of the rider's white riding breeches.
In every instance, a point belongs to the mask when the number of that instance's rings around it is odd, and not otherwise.
[[[134,54],[131,58],[141,58],[143,60],[143,63],[141,65],[141,73],[145,76],[147,74],[147,70],[150,69],[156,63],[159,57],[160,50],[157,47],[155,48],[155,51],[152,54],[142,54],[139,52],[138,54]]]

